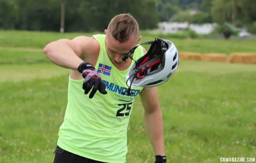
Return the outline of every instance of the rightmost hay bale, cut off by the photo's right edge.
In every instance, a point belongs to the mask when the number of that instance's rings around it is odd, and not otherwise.
[[[229,55],[228,62],[256,64],[256,53],[232,53]]]

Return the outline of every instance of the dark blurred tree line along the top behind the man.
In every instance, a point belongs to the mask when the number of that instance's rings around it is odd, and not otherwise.
[[[131,13],[141,30],[161,21],[232,23],[256,33],[255,0],[0,0],[0,29],[59,31],[65,3],[65,31],[103,31],[112,17]]]

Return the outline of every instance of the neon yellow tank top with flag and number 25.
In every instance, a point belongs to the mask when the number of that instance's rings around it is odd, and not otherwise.
[[[127,127],[134,98],[142,87],[131,87],[134,94],[123,95],[127,88],[128,69],[118,70],[108,58],[105,35],[94,35],[100,43],[100,53],[95,65],[102,77],[106,95],[98,91],[92,99],[84,94],[84,80],[69,78],[68,103],[64,121],[59,129],[58,146],[80,156],[109,163],[125,163],[127,154]],[[139,46],[133,54],[137,60],[143,56]]]

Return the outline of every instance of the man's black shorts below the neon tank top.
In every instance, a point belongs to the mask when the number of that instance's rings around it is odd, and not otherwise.
[[[79,156],[62,149],[59,146],[56,147],[54,153],[55,157],[53,163],[105,163]]]

